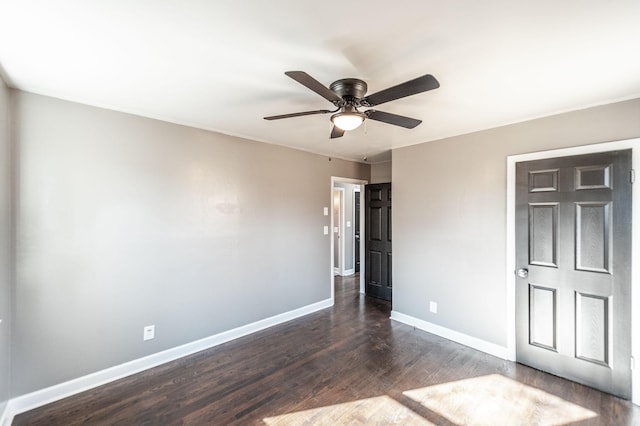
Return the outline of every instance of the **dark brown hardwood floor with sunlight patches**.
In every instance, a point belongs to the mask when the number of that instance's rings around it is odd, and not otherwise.
[[[391,321],[390,309],[338,277],[333,308],[13,424],[640,424],[629,401]]]

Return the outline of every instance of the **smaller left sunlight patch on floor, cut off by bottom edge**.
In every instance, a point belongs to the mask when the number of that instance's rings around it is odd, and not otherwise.
[[[263,419],[272,425],[433,425],[388,396],[297,411]]]

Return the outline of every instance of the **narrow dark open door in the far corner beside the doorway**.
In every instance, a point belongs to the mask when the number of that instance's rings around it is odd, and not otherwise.
[[[391,300],[391,184],[365,187],[365,291]]]

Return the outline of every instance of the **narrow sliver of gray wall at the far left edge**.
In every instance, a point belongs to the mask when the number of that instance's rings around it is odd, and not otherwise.
[[[11,148],[9,89],[0,79],[0,414],[9,399],[9,361],[12,316],[11,286]]]

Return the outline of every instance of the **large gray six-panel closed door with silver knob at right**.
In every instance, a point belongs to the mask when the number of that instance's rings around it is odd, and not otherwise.
[[[631,151],[516,165],[516,350],[631,397]]]

